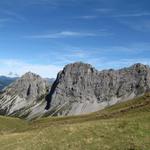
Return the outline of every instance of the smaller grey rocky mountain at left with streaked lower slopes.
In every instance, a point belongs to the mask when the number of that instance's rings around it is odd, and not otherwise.
[[[44,113],[49,83],[40,76],[26,73],[0,94],[0,114],[32,119]]]

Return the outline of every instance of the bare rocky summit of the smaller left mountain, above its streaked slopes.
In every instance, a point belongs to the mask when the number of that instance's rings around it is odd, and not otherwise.
[[[9,91],[12,94],[17,93],[21,98],[33,100],[38,95],[44,93],[48,86],[48,82],[39,75],[28,72],[8,86],[5,91]]]

